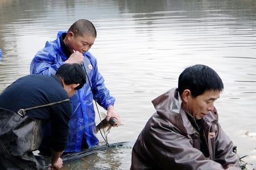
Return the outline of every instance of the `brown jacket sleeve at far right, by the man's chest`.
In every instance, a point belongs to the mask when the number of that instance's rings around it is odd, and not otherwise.
[[[220,124],[217,124],[218,130],[216,134],[216,151],[215,151],[215,160],[216,162],[226,166],[239,166],[238,156],[233,152],[233,142],[222,130]]]

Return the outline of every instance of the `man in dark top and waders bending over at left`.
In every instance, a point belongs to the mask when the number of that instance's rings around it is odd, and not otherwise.
[[[52,168],[62,167],[60,155],[68,141],[73,96],[86,81],[78,64],[64,64],[56,75],[27,75],[0,95],[0,169],[46,169],[35,156],[46,122],[52,126]]]

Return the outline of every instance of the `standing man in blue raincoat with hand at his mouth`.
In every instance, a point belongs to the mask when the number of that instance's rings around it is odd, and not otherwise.
[[[105,87],[104,78],[98,72],[96,58],[88,52],[97,36],[96,28],[86,19],[77,20],[68,29],[60,31],[55,41],[46,42],[46,46],[32,59],[31,74],[53,75],[64,63],[83,64],[88,74],[88,80],[71,98],[73,115],[69,121],[69,141],[65,152],[79,152],[81,148],[91,148],[98,145],[94,135],[95,112],[93,99],[107,112],[107,121],[115,117],[120,124],[118,113],[114,109],[114,97],[110,96]],[[49,127],[44,130],[42,149],[49,150]]]

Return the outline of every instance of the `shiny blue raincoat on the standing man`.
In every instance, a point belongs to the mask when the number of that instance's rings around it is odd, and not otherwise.
[[[30,74],[54,75],[56,70],[64,64],[68,57],[65,56],[60,45],[60,37],[63,33],[65,32],[60,31],[55,41],[47,41],[46,46],[39,50],[32,59]],[[114,105],[115,101],[114,97],[110,96],[109,90],[105,87],[104,78],[98,72],[96,58],[89,52],[84,53],[84,57],[84,66],[88,77],[84,87],[71,98],[73,114],[69,121],[69,141],[65,152],[79,152],[83,138],[86,140],[89,148],[98,145],[98,139],[94,135],[96,127],[93,98],[104,109]],[[89,82],[92,84],[92,89]],[[45,131],[49,132],[49,130]]]

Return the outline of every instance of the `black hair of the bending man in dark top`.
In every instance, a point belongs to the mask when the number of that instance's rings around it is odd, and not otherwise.
[[[79,86],[77,86],[75,90],[82,88],[86,82],[85,71],[77,63],[65,63],[64,65],[60,66],[56,72],[56,76],[62,78],[63,82],[67,85],[79,83]]]

